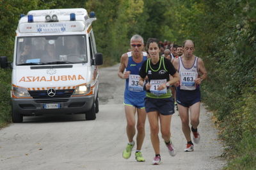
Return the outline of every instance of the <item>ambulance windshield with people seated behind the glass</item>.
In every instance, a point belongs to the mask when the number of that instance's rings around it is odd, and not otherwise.
[[[17,65],[86,63],[86,36],[26,36],[17,39]]]

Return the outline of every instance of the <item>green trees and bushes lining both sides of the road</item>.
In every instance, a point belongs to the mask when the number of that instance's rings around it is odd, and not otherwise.
[[[104,65],[113,65],[140,34],[182,45],[191,39],[209,78],[202,92],[225,144],[225,169],[256,169],[256,1],[255,0],[3,0],[0,56],[12,61],[20,13],[49,8],[94,11],[93,30]],[[11,70],[0,70],[0,128],[11,122]]]

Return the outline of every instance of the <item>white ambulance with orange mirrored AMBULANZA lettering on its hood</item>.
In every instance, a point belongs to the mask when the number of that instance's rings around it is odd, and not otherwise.
[[[12,120],[41,114],[99,112],[98,65],[92,22],[83,8],[33,10],[21,16],[13,63],[1,56],[1,68],[12,68]]]

